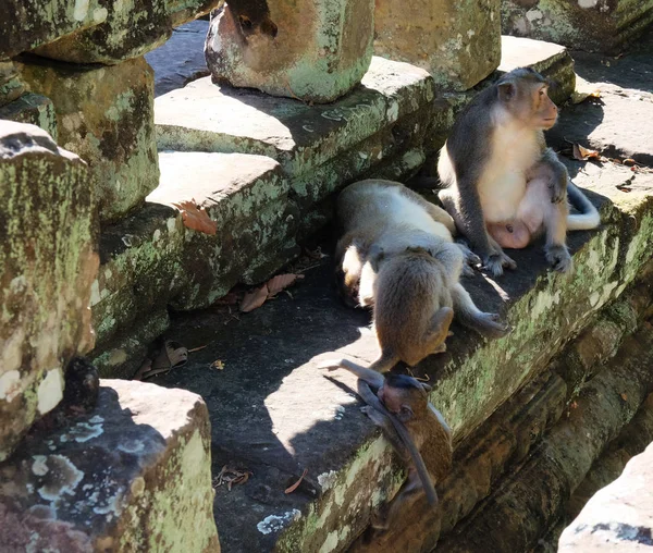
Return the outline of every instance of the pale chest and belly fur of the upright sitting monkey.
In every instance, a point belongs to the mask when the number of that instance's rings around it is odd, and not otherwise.
[[[479,181],[483,216],[489,223],[514,220],[526,194],[526,171],[540,155],[532,131],[498,126],[492,137],[492,159]]]

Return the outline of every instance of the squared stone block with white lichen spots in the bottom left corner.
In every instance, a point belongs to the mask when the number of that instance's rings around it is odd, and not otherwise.
[[[0,464],[0,550],[220,552],[195,394],[106,380],[95,411]]]

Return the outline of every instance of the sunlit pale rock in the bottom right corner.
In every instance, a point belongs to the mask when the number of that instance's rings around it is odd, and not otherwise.
[[[653,444],[624,474],[594,495],[563,532],[566,552],[636,552],[653,545]]]

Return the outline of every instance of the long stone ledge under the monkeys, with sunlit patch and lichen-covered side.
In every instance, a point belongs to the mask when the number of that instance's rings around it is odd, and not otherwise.
[[[620,192],[615,182],[597,183],[590,195],[605,224],[570,235],[574,274],[546,272],[534,246],[516,253],[519,269],[497,282],[466,279],[478,305],[503,312],[512,333],[483,342],[456,327],[449,351],[415,369],[438,382],[432,401],[456,443],[531,382],[649,260],[651,195]],[[254,472],[243,487],[217,490],[225,551],[342,551],[396,489],[389,445],[358,411],[354,380],[325,378],[316,368],[328,352],[365,364],[377,356],[368,317],[336,300],[331,275],[326,262],[307,272],[293,298],[282,295],[237,319],[226,308],[182,317],[167,334],[190,348],[207,347],[156,381],[204,395],[215,471],[233,465]],[[211,368],[215,360],[222,370]],[[542,400],[551,413],[559,413],[555,397]],[[308,482],[284,494],[305,468]]]

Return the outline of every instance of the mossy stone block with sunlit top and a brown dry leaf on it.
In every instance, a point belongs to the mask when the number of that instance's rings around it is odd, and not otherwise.
[[[297,218],[288,210],[288,184],[274,160],[161,152],[160,163],[161,181],[146,207],[102,230],[91,296],[99,346],[155,306],[209,306],[257,260],[261,263],[259,256],[274,259],[295,245]],[[215,235],[186,229],[178,211],[165,207],[193,199],[217,223]],[[98,365],[102,371],[120,359],[102,358]]]

